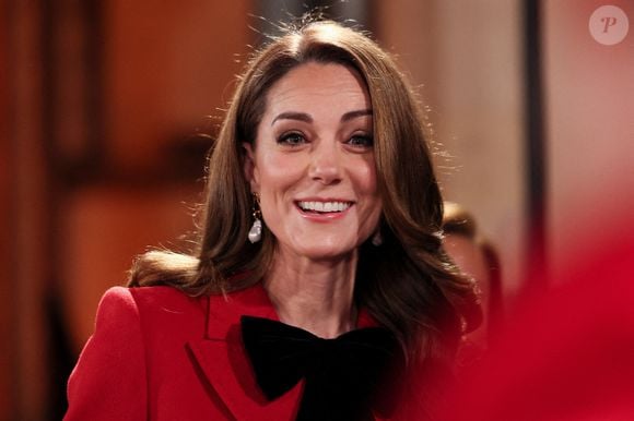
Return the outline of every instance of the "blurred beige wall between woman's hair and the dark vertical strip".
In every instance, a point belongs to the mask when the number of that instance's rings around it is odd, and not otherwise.
[[[524,261],[521,2],[379,3],[379,37],[421,86],[449,159],[437,166],[445,196],[470,209],[497,248],[507,294]]]

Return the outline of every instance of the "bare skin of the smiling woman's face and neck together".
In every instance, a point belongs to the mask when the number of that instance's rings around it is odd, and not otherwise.
[[[372,130],[363,80],[306,63],[271,87],[255,147],[244,144],[245,175],[278,244],[265,287],[281,321],[320,337],[355,324],[357,248],[381,213]]]

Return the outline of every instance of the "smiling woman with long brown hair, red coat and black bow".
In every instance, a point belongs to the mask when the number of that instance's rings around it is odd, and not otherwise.
[[[479,323],[442,214],[388,55],[333,22],[290,31],[239,79],[198,250],[150,252],[106,292],[67,419],[396,416],[386,372],[449,362]]]

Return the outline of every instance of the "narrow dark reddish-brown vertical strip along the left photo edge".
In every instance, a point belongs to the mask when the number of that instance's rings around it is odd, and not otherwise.
[[[2,309],[0,341],[1,419],[37,419],[40,408],[21,417],[16,408],[44,402],[46,354],[43,265],[46,216],[42,209],[46,170],[42,143],[39,10],[34,2],[3,2],[2,22]],[[4,131],[5,129],[5,131]],[[28,395],[24,393],[28,392]],[[25,396],[32,401],[27,402]]]

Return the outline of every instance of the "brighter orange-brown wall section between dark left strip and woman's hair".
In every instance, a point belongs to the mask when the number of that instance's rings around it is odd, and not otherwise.
[[[208,145],[190,134],[221,115],[250,37],[245,1],[110,1],[103,17],[107,173],[75,188],[62,216],[75,352],[93,328],[86,315],[133,256],[193,229]]]

